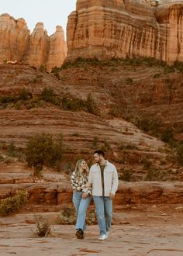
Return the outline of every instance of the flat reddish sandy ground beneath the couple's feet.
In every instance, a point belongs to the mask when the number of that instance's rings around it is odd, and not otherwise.
[[[91,225],[85,240],[77,240],[74,226],[54,225],[54,237],[36,237],[35,217],[31,214],[0,219],[0,255],[124,255],[182,256],[183,206],[146,211],[128,210],[114,213],[109,238],[98,240],[98,226]],[[40,214],[40,213],[39,213]],[[43,213],[55,215],[56,213]]]

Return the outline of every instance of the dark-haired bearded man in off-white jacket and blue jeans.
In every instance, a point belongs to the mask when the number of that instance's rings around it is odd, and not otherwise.
[[[102,150],[95,150],[94,160],[95,164],[90,168],[88,186],[92,187],[100,230],[99,240],[105,240],[109,236],[112,223],[112,199],[118,189],[118,174],[116,167],[105,160]]]

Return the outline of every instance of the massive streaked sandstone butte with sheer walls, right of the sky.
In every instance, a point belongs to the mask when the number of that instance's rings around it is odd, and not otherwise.
[[[67,61],[156,57],[183,61],[181,0],[78,0],[67,22]]]

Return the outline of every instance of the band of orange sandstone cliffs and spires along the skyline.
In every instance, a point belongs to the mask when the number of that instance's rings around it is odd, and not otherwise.
[[[78,57],[155,57],[183,61],[182,1],[78,0],[64,31],[47,35],[43,23],[29,33],[24,19],[0,16],[0,62],[22,61],[35,67],[60,67]],[[67,53],[68,47],[68,53]]]

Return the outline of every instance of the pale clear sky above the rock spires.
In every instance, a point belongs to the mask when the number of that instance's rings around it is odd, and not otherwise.
[[[75,10],[77,0],[0,0],[0,15],[9,13],[15,19],[23,18],[31,32],[37,22],[43,22],[50,36],[56,26],[66,34],[67,16]]]

